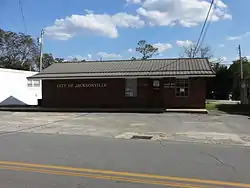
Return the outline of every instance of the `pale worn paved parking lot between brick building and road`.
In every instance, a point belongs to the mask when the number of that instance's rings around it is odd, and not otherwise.
[[[239,141],[242,137],[248,139],[250,120],[247,116],[228,114],[0,112],[0,132],[1,135],[32,132],[121,138],[131,133],[164,134],[168,138],[229,136]]]

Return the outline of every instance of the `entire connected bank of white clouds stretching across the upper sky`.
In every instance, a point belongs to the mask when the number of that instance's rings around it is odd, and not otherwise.
[[[126,12],[113,15],[95,14],[85,9],[82,15],[73,14],[56,19],[54,25],[45,28],[46,35],[59,40],[82,35],[117,38],[120,28],[140,28],[145,23],[191,27],[204,22],[210,6],[208,0],[126,0],[126,2],[140,5],[136,11],[137,15]],[[227,5],[222,0],[217,0],[217,8],[214,9],[211,20],[231,18]]]

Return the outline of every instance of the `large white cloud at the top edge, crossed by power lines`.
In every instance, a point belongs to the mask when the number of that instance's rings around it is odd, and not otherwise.
[[[144,17],[150,25],[184,27],[196,26],[204,22],[209,1],[201,0],[145,0],[137,13]],[[221,0],[217,1],[216,9],[213,9],[212,21],[231,19],[227,5]]]

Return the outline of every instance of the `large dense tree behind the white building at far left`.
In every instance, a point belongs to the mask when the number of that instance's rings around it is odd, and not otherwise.
[[[33,70],[38,52],[31,36],[0,29],[0,67]]]

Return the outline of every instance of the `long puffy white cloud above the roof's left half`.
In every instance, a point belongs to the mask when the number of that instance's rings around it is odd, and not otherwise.
[[[64,19],[57,19],[53,26],[45,28],[47,36],[68,40],[78,35],[98,35],[109,38],[118,37],[118,28],[139,28],[144,25],[139,16],[128,13],[94,14],[85,10],[85,15],[71,15]]]

